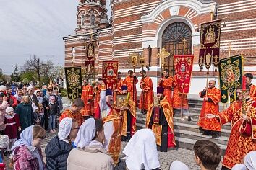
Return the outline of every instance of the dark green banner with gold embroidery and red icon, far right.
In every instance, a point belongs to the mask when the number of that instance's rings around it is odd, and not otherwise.
[[[218,71],[222,103],[229,101],[229,94],[231,94],[230,103],[236,100],[236,87],[242,84],[243,66],[242,55],[220,60]]]

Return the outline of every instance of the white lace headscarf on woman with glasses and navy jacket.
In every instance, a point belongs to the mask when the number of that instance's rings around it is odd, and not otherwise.
[[[72,118],[65,117],[61,122],[59,122],[59,132],[58,132],[58,138],[59,140],[66,140],[69,136],[69,133],[72,128]]]

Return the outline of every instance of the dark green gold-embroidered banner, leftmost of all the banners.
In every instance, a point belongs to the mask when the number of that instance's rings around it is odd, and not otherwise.
[[[82,94],[82,69],[80,67],[65,68],[67,81],[67,97],[77,99]]]

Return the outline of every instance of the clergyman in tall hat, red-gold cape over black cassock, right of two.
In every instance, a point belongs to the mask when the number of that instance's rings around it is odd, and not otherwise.
[[[157,88],[158,103],[148,107],[146,128],[151,128],[155,133],[158,151],[167,152],[168,148],[176,146],[174,137],[173,109],[164,96],[163,87]]]

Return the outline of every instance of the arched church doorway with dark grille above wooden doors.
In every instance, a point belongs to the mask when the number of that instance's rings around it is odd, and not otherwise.
[[[174,22],[163,31],[162,47],[171,54],[165,59],[166,64],[163,69],[168,69],[170,75],[174,76],[174,55],[183,54],[183,41],[187,40],[185,45],[185,54],[192,53],[192,30],[184,22]]]

